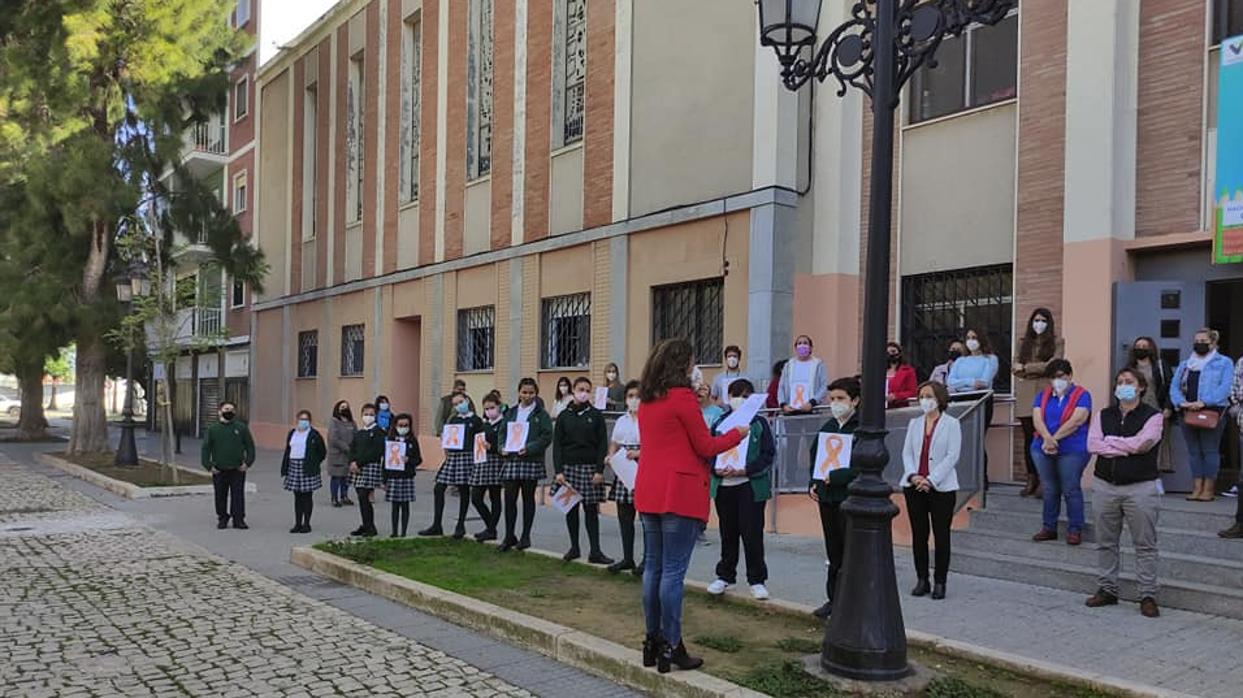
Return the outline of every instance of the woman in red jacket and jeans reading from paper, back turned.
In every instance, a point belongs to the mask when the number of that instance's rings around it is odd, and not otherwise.
[[[741,426],[712,436],[691,391],[695,355],[690,342],[666,339],[651,348],[639,381],[639,440],[643,467],[634,504],[643,517],[646,545],[643,612],[648,637],[643,663],[667,673],[699,668],[682,645],[682,581],[695,539],[707,524],[710,460],[733,448],[748,433]]]

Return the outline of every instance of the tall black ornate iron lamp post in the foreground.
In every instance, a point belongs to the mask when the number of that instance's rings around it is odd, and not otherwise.
[[[840,1],[840,0],[839,0]],[[871,193],[863,318],[863,400],[851,466],[860,474],[842,505],[846,556],[824,631],[820,664],[846,678],[894,681],[911,673],[906,628],[894,573],[890,522],[897,507],[881,473],[885,448],[885,343],[889,340],[889,231],[894,176],[894,112],[902,86],[921,66],[935,66],[941,40],[972,24],[993,25],[1017,0],[859,0],[850,20],[817,51],[820,0],[758,0],[759,43],[771,46],[784,86],[837,79],[871,98]]]

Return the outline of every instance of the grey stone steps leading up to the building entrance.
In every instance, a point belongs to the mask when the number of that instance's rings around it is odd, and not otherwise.
[[[1096,589],[1095,527],[1090,493],[1084,543],[1065,544],[1065,508],[1055,542],[1034,543],[1040,528],[1040,501],[1018,496],[1017,487],[993,486],[987,507],[971,512],[967,529],[953,532],[950,569],[958,574],[1006,579],[1078,591]],[[1166,496],[1157,527],[1161,554],[1157,601],[1162,606],[1243,620],[1243,540],[1226,540],[1217,532],[1231,525],[1234,499],[1192,503]],[[1122,532],[1121,596],[1137,600],[1135,550]]]

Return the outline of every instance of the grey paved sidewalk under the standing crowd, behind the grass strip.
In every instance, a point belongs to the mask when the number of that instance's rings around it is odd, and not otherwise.
[[[184,462],[193,463],[198,443],[184,440],[183,447],[186,451]],[[317,493],[312,520],[314,533],[287,534],[292,524],[292,497],[281,491],[280,455],[262,452],[260,456],[251,476],[260,492],[249,499],[254,513],[247,517],[257,530],[247,535],[234,532],[218,535],[210,527],[214,519],[206,498],[149,501],[132,508],[139,509],[155,528],[180,529],[188,538],[208,544],[227,542],[213,544],[213,550],[265,574],[273,569],[276,560],[283,564],[290,546],[339,538],[358,525],[355,508],[333,509],[324,503],[328,493],[322,491]],[[419,499],[411,513],[411,532],[430,519],[430,484],[428,474],[418,477]],[[456,515],[456,503],[455,498],[449,499],[449,517]],[[380,502],[377,509],[380,532],[387,534],[388,505]],[[481,528],[474,510],[467,528],[471,533]],[[605,518],[600,528],[605,553],[618,555],[620,537],[615,523]],[[718,545],[715,532],[710,530],[707,537],[711,543],[696,550],[691,564],[690,578],[699,581],[715,579]],[[541,508],[533,543],[547,550],[566,549],[566,527],[556,510]],[[824,550],[819,539],[768,535],[766,545],[768,587],[773,596],[819,605],[824,586]],[[1090,610],[1083,605],[1086,594],[1032,586],[1022,580],[963,575],[951,575],[945,601],[914,599],[905,594],[915,581],[906,550],[899,550],[896,565],[910,630],[1193,696],[1236,697],[1238,687],[1243,686],[1243,666],[1232,658],[1233,648],[1243,643],[1243,621],[1170,609],[1162,610],[1160,619],[1145,619],[1134,604]],[[738,573],[742,575],[743,570]],[[747,591],[741,585],[733,592]]]

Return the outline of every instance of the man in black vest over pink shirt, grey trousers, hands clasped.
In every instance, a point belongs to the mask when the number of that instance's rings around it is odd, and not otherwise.
[[[1088,606],[1117,604],[1117,571],[1121,564],[1119,538],[1122,522],[1135,543],[1135,576],[1140,612],[1155,619],[1157,609],[1157,515],[1161,513],[1161,473],[1157,445],[1165,417],[1141,401],[1147,388],[1134,369],[1117,371],[1116,401],[1096,412],[1088,430],[1088,450],[1096,455],[1091,507],[1096,518],[1096,550],[1100,553],[1100,589]]]

